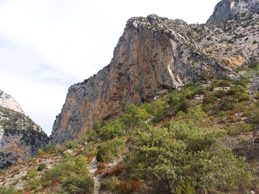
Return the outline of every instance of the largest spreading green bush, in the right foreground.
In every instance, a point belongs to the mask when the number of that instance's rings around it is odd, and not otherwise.
[[[248,164],[220,145],[224,130],[212,126],[206,113],[197,108],[179,112],[168,128],[138,131],[130,156],[131,177],[153,180],[155,193],[248,188]]]

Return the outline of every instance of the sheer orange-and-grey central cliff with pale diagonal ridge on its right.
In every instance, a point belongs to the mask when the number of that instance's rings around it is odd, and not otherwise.
[[[239,78],[188,34],[190,28],[182,20],[156,15],[129,19],[111,63],[69,88],[53,125],[52,143],[77,139],[95,120],[109,120],[128,105],[149,102],[155,94],[177,89],[203,72]]]

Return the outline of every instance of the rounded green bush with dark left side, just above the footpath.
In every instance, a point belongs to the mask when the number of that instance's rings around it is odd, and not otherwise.
[[[120,156],[121,152],[125,148],[125,142],[123,139],[115,137],[111,141],[104,142],[98,146],[96,154],[97,162],[111,162],[115,157]]]

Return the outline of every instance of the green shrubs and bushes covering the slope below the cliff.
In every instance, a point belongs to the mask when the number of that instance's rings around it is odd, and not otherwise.
[[[112,193],[257,191],[259,156],[256,146],[248,147],[259,126],[258,96],[244,81],[204,74],[155,101],[130,105],[110,122],[95,121],[79,141],[39,149],[38,159],[55,153],[59,162],[28,167],[23,189],[13,183],[0,193],[91,193],[94,180],[87,166],[94,157],[101,189]],[[124,160],[107,167],[121,156]],[[21,171],[16,165],[13,173]]]

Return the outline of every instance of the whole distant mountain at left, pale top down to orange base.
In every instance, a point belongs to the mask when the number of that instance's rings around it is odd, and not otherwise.
[[[0,92],[0,168],[3,168],[35,156],[49,137],[24,115],[14,98]]]

